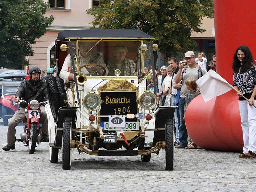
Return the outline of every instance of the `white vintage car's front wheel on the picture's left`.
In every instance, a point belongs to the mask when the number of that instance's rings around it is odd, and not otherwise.
[[[72,139],[72,118],[66,117],[63,121],[62,137],[62,169],[71,168],[71,148],[70,140]]]

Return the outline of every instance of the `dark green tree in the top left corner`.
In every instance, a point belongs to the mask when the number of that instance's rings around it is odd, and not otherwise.
[[[44,35],[53,16],[42,0],[0,0],[0,67],[20,68],[33,55],[31,44]]]

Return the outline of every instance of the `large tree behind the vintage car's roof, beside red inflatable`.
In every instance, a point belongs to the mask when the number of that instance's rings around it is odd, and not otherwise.
[[[184,52],[194,45],[191,31],[200,28],[202,17],[213,17],[213,0],[102,0],[94,15],[93,27],[140,29],[154,36],[167,56]]]

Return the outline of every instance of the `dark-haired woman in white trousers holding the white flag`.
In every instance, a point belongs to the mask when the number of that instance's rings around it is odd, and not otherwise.
[[[238,105],[244,139],[240,158],[256,158],[256,68],[249,48],[242,45],[236,49],[232,63],[233,85],[238,91]],[[244,98],[246,97],[248,101]]]

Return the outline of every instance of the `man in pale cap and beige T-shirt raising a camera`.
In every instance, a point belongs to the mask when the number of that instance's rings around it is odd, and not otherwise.
[[[185,59],[187,62],[180,61],[179,63],[179,71],[175,76],[175,83],[178,84],[182,80],[181,90],[180,90],[180,102],[179,102],[179,110],[180,110],[180,126],[179,126],[179,141],[180,145],[175,146],[175,148],[185,148],[188,145],[188,131],[185,125],[184,117],[184,106],[185,106],[185,96],[189,92],[186,87],[186,80],[188,78],[193,78],[195,80],[202,77],[206,71],[201,67],[196,65],[196,57],[193,51],[188,51],[185,53]],[[199,88],[196,90],[199,92]]]

